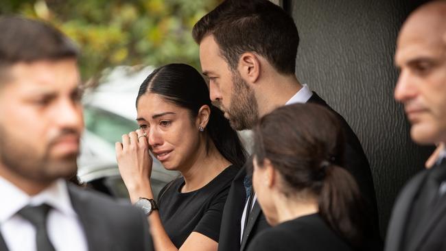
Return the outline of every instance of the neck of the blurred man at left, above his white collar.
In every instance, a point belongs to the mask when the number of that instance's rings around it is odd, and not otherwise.
[[[33,196],[41,191],[45,190],[49,187],[52,182],[36,182],[34,180],[30,180],[28,178],[22,177],[19,174],[16,174],[14,171],[11,171],[8,167],[4,167],[0,164],[0,176],[5,180],[8,180],[14,186],[21,189],[27,195]]]

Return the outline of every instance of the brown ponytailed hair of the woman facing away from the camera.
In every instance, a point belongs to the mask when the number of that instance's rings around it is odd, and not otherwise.
[[[344,134],[336,115],[316,104],[277,108],[255,125],[254,154],[281,174],[287,197],[305,191],[318,198],[319,214],[353,247],[367,230],[365,206],[351,174],[342,168]]]

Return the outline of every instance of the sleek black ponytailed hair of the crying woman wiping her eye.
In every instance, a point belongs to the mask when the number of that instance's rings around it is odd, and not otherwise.
[[[161,95],[166,101],[189,110],[191,119],[196,119],[198,110],[204,105],[209,106],[211,115],[204,133],[207,133],[207,150],[212,141],[220,154],[238,167],[246,161],[246,150],[231,128],[223,112],[211,104],[209,88],[200,73],[187,64],[167,64],[155,69],[144,80],[137,97],[145,93]]]

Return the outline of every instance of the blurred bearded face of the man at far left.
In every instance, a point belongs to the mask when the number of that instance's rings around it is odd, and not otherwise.
[[[49,184],[75,175],[83,128],[76,61],[20,62],[7,71],[0,83],[0,176]]]

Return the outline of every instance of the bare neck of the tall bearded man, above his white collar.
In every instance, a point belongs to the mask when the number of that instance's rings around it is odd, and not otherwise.
[[[272,112],[275,108],[284,106],[302,88],[302,84],[295,75],[278,73],[270,75],[260,86],[261,89],[256,93],[260,117]]]

